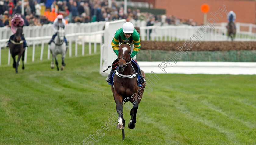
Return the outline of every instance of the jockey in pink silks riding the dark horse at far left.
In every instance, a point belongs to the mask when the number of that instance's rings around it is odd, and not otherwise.
[[[9,43],[14,37],[14,34],[16,33],[16,30],[18,27],[23,27],[24,26],[24,19],[21,18],[20,14],[15,14],[14,17],[11,20],[11,30],[12,30],[12,36],[10,37],[7,47],[9,46]],[[24,35],[21,36],[21,39],[23,40],[23,47],[27,47],[26,40],[24,38]]]

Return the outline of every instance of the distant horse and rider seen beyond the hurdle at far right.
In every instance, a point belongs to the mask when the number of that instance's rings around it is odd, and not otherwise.
[[[234,21],[236,20],[236,14],[233,11],[230,11],[228,14],[228,25],[226,26],[226,28],[228,29],[228,37],[231,38],[231,41],[234,40],[234,38],[236,37],[236,25],[234,23]]]

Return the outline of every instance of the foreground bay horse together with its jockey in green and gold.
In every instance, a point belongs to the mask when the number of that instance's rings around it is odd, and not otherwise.
[[[122,129],[124,140],[123,105],[128,101],[133,104],[132,107],[129,107],[131,108],[131,119],[128,128],[134,129],[137,109],[146,86],[145,74],[135,59],[140,50],[140,35],[132,23],[126,22],[122,28],[116,31],[111,45],[118,58],[114,60],[112,70],[106,81],[111,85],[111,91],[116,102],[116,111],[119,117],[116,129]]]

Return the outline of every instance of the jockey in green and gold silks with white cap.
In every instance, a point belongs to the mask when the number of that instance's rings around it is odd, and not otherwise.
[[[133,37],[133,42],[131,44],[131,51],[132,51],[131,57],[132,57],[132,60],[134,60],[137,63],[136,54],[140,50],[140,34],[137,32],[136,29],[134,29],[134,26],[131,22],[124,23],[123,27],[116,31],[115,36],[111,42],[112,48],[117,56],[118,56],[118,47],[119,47],[119,40],[118,40],[119,36],[121,36],[123,40],[129,40],[131,36]],[[118,59],[114,60],[113,64],[115,64],[116,62],[118,62]],[[131,64],[133,65],[133,68],[137,68],[138,66],[138,65],[136,66],[136,64],[133,61],[131,62]],[[146,80],[143,77],[140,68],[138,69],[139,70],[136,70],[136,71],[139,73],[141,77],[139,80],[139,83],[142,84],[146,82]],[[114,70],[115,69],[111,69],[110,74],[108,75],[108,78],[106,78],[106,81],[109,83],[112,82],[111,78]]]

